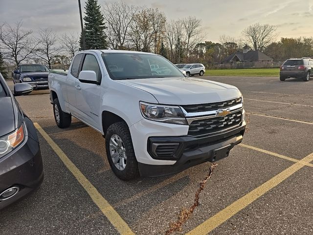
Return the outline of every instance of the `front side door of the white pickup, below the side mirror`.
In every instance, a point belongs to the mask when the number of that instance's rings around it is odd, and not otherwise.
[[[101,130],[101,79],[103,72],[100,69],[100,63],[96,54],[91,52],[85,54],[81,71],[95,71],[97,76],[97,84],[81,82],[79,79],[75,82],[76,90],[76,107],[78,116],[88,125],[97,130]]]

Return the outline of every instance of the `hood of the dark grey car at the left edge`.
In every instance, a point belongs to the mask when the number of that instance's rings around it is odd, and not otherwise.
[[[0,97],[0,137],[15,130],[15,118],[12,99],[10,96]]]

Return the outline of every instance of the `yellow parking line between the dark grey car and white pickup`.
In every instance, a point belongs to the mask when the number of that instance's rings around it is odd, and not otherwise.
[[[69,171],[74,175],[77,181],[88,192],[92,201],[98,206],[102,213],[109,219],[116,230],[122,235],[134,235],[131,228],[126,224],[122,217],[114,210],[110,203],[98,192],[98,190],[89,182],[83,173],[74,165],[62,149],[48,136],[38,123],[34,123],[37,130],[45,138],[54,152],[59,156]]]

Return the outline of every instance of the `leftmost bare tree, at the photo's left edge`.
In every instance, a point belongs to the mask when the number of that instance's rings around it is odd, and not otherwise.
[[[3,57],[17,66],[22,61],[29,59],[37,46],[30,37],[32,31],[23,30],[22,25],[22,21],[17,22],[15,27],[6,23],[0,25],[0,47]]]

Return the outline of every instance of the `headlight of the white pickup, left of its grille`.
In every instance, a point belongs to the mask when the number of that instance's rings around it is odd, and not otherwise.
[[[171,124],[188,125],[184,114],[178,106],[148,104],[140,102],[140,110],[142,116],[149,120]]]

